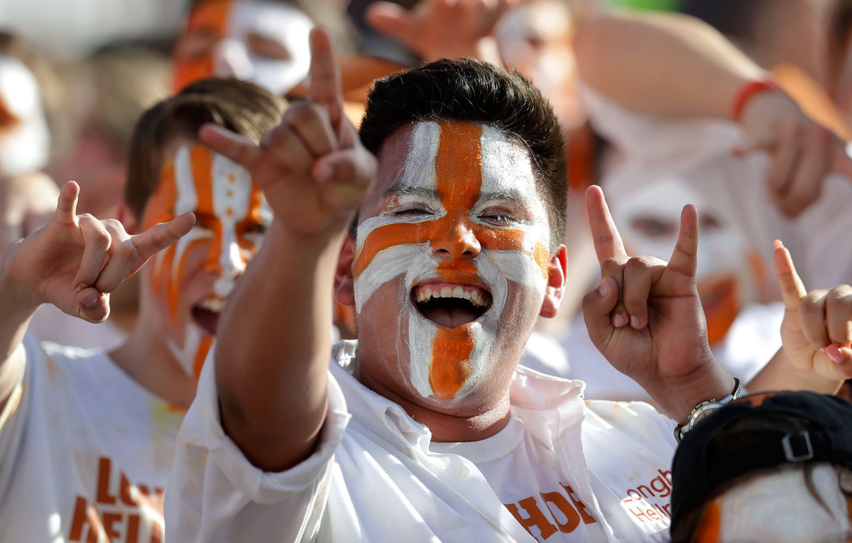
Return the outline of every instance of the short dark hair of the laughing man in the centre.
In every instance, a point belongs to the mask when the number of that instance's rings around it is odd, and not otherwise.
[[[553,108],[533,83],[479,60],[437,60],[379,79],[360,137],[377,154],[400,126],[441,120],[483,123],[527,147],[550,219],[550,249],[558,247],[565,233],[567,160]]]

